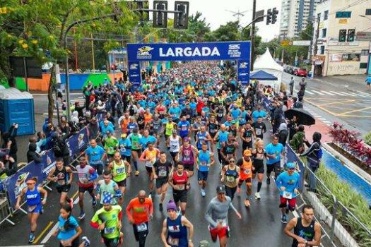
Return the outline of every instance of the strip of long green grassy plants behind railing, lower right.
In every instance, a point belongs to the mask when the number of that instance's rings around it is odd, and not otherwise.
[[[319,179],[321,179],[325,186],[334,193],[337,200],[339,200],[349,211],[362,222],[369,231],[371,231],[371,210],[367,201],[355,192],[348,183],[344,183],[334,172],[326,169],[324,164],[319,166],[316,174]],[[332,212],[334,207],[334,200],[331,195],[327,193],[327,190],[317,183],[317,191],[319,193],[319,198],[321,202],[326,206],[326,208]],[[343,210],[337,208],[338,221],[350,231],[353,238],[358,242],[359,246],[371,246],[371,236],[367,233],[363,227],[355,222],[351,215],[345,215]]]

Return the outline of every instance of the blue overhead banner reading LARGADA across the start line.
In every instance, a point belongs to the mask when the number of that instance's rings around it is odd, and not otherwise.
[[[250,42],[127,44],[127,56],[128,61],[249,61]]]

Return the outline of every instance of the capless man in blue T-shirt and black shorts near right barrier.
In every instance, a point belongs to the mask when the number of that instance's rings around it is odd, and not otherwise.
[[[274,171],[274,176],[281,172],[281,155],[285,155],[285,148],[281,143],[278,143],[278,136],[274,135],[272,143],[266,145],[266,184],[271,183],[271,172]]]

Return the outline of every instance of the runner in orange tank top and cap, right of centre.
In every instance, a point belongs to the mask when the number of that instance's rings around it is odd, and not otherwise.
[[[252,193],[252,159],[251,151],[245,150],[244,155],[237,161],[237,167],[240,167],[240,179],[238,181],[237,193],[240,194],[242,183],[246,183],[245,207],[250,206],[249,197]]]

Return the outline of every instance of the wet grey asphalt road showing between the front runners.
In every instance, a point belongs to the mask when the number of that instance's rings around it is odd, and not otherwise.
[[[266,134],[266,143],[268,143],[270,137],[269,133]],[[239,157],[241,152],[239,152]],[[218,160],[218,159],[216,159]],[[128,187],[124,197],[124,207],[129,203],[131,198],[136,196],[139,189],[148,188],[148,180],[146,171],[143,164],[141,164],[141,174],[131,176],[128,181]],[[208,177],[208,186],[206,187],[206,197],[202,198],[200,189],[196,181],[196,176],[191,179],[191,190],[188,195],[188,204],[186,216],[194,224],[194,243],[206,239],[211,242],[211,238],[208,233],[208,224],[204,219],[204,212],[208,202],[216,195],[215,188],[219,183],[218,165],[211,167],[211,171]],[[254,181],[253,192],[257,190],[257,182]],[[74,185],[71,188],[69,195],[75,195],[76,198],[77,186]],[[172,198],[171,188],[167,191],[165,202]],[[237,207],[242,214],[242,219],[237,219],[235,213],[230,210],[229,222],[231,237],[228,246],[290,246],[291,239],[283,234],[284,225],[281,223],[281,210],[278,209],[278,190],[274,183],[266,185],[265,179],[261,188],[261,200],[251,200],[251,207],[247,209],[243,202],[245,200],[245,188],[241,191],[241,196],[235,196],[233,204]],[[165,210],[160,212],[158,209],[159,198],[153,196],[154,201],[154,218],[150,223],[150,233],[148,234],[146,246],[163,246],[160,241],[160,231],[163,219],[165,218]],[[51,230],[54,228],[59,213],[59,197],[58,193],[53,189],[49,192],[48,202],[45,206],[45,214],[41,215],[38,222],[36,231],[37,241],[35,244],[44,246],[58,246],[57,240],[50,236]],[[93,217],[93,213],[96,209],[91,206],[90,195],[86,194],[85,198],[86,207],[86,218],[83,219],[80,224],[83,228],[83,236],[88,236],[92,241],[92,246],[102,246],[100,243],[100,235],[98,230],[90,227],[90,219]],[[165,205],[164,205],[165,206]],[[76,204],[73,210],[73,215],[76,217],[79,214],[78,205]],[[293,217],[290,214],[289,217]],[[16,222],[16,226],[13,227],[10,224],[2,224],[0,226],[0,232],[11,236],[8,238],[0,238],[0,246],[27,246],[28,241],[28,221],[22,212],[17,212],[12,219]],[[134,240],[134,234],[132,227],[129,224],[125,215],[123,220],[123,231],[124,231],[124,246],[137,246]],[[3,235],[4,236],[4,235]],[[213,243],[211,246],[218,246],[218,243]]]

